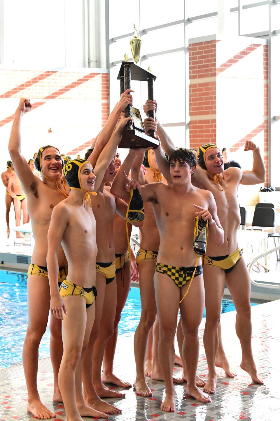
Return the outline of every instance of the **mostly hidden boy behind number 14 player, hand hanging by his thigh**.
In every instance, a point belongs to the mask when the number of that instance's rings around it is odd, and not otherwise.
[[[120,153],[117,151],[115,160],[115,175],[118,173],[121,165]],[[132,225],[128,224],[128,236],[131,236]],[[103,358],[102,383],[115,384],[120,387],[131,387],[127,381],[123,381],[113,373],[113,362],[118,338],[118,324],[121,318],[121,312],[126,304],[130,282],[138,282],[139,274],[136,266],[136,258],[131,250],[131,260],[129,259],[128,243],[126,237],[126,220],[117,212],[113,221],[113,235],[115,247],[116,264],[116,284],[117,284],[117,307],[114,322],[114,333],[108,339]],[[131,269],[132,268],[132,269]]]

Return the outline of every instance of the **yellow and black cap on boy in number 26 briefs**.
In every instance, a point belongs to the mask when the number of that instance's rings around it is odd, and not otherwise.
[[[96,196],[97,193],[87,192],[82,187],[80,174],[81,174],[81,169],[85,164],[91,164],[91,163],[85,159],[70,160],[68,161],[66,165],[64,165],[63,173],[65,176],[65,180],[69,184],[69,187],[71,189],[82,190],[85,193],[83,197],[83,203],[86,204],[89,201],[89,205],[91,206],[92,200],[89,195]]]

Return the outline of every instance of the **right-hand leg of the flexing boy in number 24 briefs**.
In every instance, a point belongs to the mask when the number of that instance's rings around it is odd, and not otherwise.
[[[236,308],[236,334],[242,349],[240,367],[249,373],[254,383],[263,384],[263,381],[258,378],[252,354],[250,277],[243,257],[234,269],[226,274],[226,282]]]

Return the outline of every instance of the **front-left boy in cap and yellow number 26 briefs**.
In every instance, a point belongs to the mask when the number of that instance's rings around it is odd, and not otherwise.
[[[86,405],[82,394],[82,365],[97,297],[96,226],[90,198],[90,195],[96,195],[95,176],[92,164],[86,160],[69,161],[63,172],[70,194],[52,212],[47,254],[50,309],[55,317],[62,320],[63,357],[58,384],[68,420],[82,421],[81,417],[89,416],[107,418],[105,413]],[[67,279],[59,287],[58,254],[61,244],[69,269]]]

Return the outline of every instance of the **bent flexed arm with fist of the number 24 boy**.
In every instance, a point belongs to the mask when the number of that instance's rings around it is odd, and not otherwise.
[[[244,151],[253,151],[253,168],[252,171],[242,171],[240,184],[251,186],[253,184],[264,183],[265,181],[265,166],[262,160],[259,147],[252,141],[246,140]],[[233,167],[234,168],[234,167]],[[239,171],[239,170],[237,170]]]

